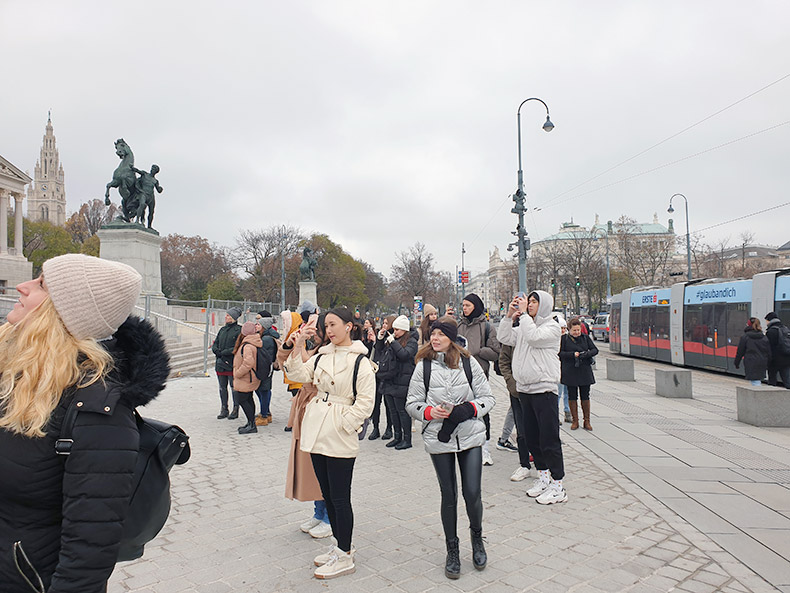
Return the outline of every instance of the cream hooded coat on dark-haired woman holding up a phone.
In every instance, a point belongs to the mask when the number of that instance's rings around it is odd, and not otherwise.
[[[357,432],[373,411],[376,398],[374,363],[365,356],[357,376],[357,398],[353,398],[354,363],[365,345],[355,340],[350,346],[328,344],[318,350],[321,358],[302,361],[297,352],[285,361],[288,376],[318,389],[305,408],[299,447],[306,453],[350,458],[359,453]]]

